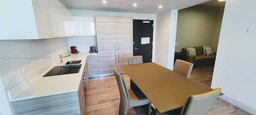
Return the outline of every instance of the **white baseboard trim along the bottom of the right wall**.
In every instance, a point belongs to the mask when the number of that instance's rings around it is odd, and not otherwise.
[[[237,100],[235,100],[231,97],[228,97],[226,95],[221,95],[220,99],[223,99],[223,100],[227,101],[228,103],[231,103],[231,104],[243,109],[244,111],[251,113],[252,115],[256,115],[256,109],[254,109],[248,105],[245,105],[244,103],[242,103],[240,101],[237,101]]]

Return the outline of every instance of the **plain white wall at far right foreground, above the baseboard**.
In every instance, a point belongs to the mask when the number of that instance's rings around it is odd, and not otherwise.
[[[256,115],[255,0],[227,0],[220,31],[212,88],[222,99]]]

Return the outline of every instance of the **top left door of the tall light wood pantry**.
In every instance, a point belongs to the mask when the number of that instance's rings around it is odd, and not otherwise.
[[[95,16],[96,32],[116,31],[116,17]]]

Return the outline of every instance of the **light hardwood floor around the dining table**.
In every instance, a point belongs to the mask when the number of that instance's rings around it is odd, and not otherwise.
[[[192,69],[190,79],[208,87],[212,81],[213,66]],[[130,77],[122,74],[130,87]],[[114,75],[89,79],[87,115],[118,115],[120,95]],[[128,108],[127,115],[144,115],[139,107]],[[222,99],[217,99],[208,115],[252,115]]]

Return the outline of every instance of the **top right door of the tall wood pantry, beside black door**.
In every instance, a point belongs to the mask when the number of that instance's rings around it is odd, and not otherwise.
[[[132,31],[132,18],[116,17],[116,31]]]

